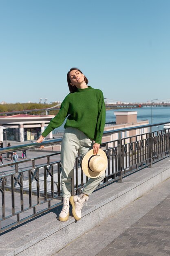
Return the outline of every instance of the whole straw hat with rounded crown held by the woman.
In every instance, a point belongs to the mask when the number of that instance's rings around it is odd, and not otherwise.
[[[107,157],[102,149],[99,148],[98,154],[93,155],[93,149],[89,150],[82,159],[82,170],[86,176],[97,178],[106,171]]]

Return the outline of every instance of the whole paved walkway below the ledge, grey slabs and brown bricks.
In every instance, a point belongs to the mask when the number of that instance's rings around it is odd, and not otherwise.
[[[170,178],[53,256],[170,255]]]

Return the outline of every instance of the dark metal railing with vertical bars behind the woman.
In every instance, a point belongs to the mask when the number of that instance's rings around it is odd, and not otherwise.
[[[144,129],[146,132],[142,133]],[[107,155],[108,167],[106,177],[97,189],[111,182],[122,182],[124,176],[147,166],[152,167],[153,163],[170,155],[170,129],[152,132],[152,125],[137,126],[105,131],[103,136],[107,141],[101,147]],[[41,145],[54,148],[60,143],[61,139],[53,139],[41,144],[2,148],[0,154],[35,150]],[[60,152],[49,152],[46,155],[41,155],[41,152],[38,157],[0,166],[0,232],[62,204]],[[24,167],[20,168],[20,165]],[[11,166],[13,171],[8,170]],[[79,193],[87,180],[81,168],[81,157],[77,156],[72,176],[72,195]]]

